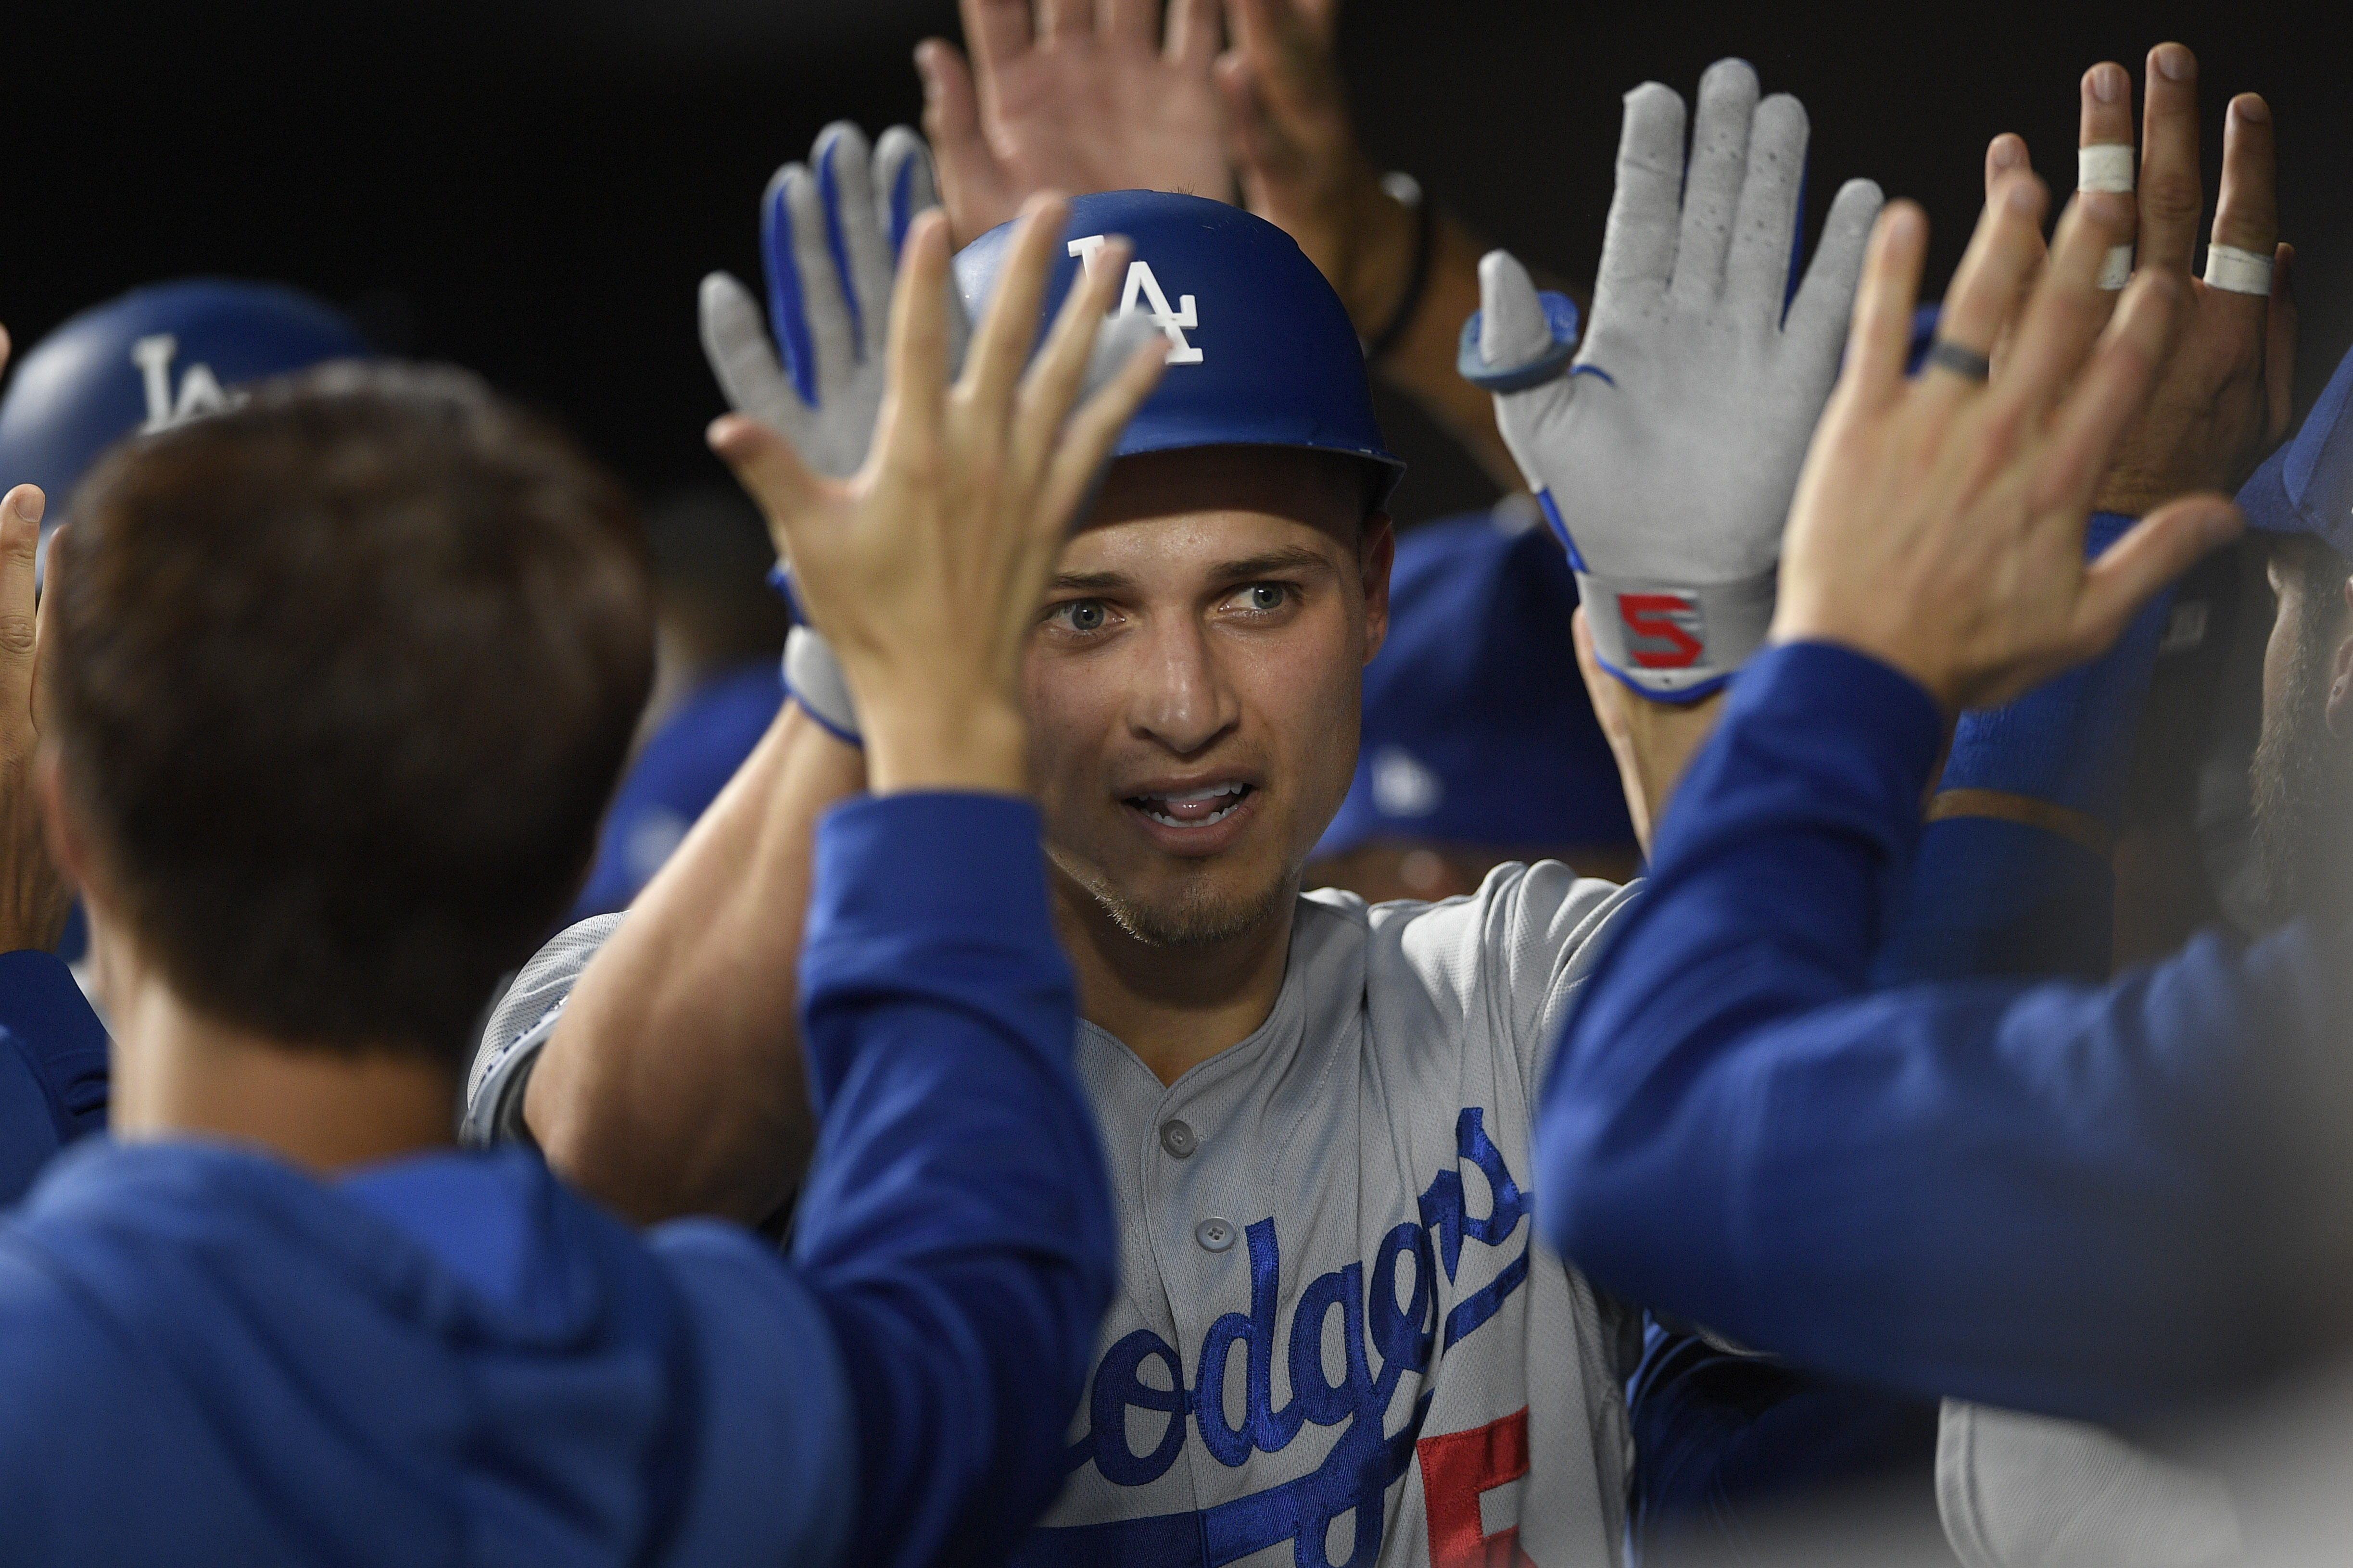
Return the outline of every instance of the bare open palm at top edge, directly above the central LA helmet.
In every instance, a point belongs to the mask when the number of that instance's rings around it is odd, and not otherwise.
[[[1033,14],[1035,12],[1035,14]],[[1231,202],[1219,0],[962,0],[972,63],[915,49],[948,223],[969,244],[1033,190],[1179,190]]]

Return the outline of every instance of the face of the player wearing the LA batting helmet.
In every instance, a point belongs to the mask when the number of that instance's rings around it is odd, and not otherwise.
[[[1047,853],[1129,936],[1287,914],[1355,771],[1388,628],[1386,520],[1341,463],[1247,447],[1113,463],[1028,651]]]

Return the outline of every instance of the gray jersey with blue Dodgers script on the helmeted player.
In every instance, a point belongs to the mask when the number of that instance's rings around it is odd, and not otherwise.
[[[1638,1333],[1537,1241],[1527,1180],[1560,1018],[1626,900],[1555,863],[1438,905],[1308,893],[1273,1013],[1176,1084],[1080,1025],[1122,1276],[1016,1561],[1619,1559]],[[473,1135],[515,1126],[546,1037],[520,1020],[586,961],[544,959],[485,1041]]]

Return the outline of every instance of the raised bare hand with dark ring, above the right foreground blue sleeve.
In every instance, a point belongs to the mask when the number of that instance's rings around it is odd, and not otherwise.
[[[1915,381],[1904,360],[1927,219],[1908,202],[1880,219],[1847,367],[1784,541],[1774,639],[1871,654],[1948,712],[2002,703],[2099,654],[2158,588],[2240,529],[2224,496],[2186,496],[2082,559],[2101,475],[2148,402],[2186,284],[2172,268],[2141,268],[2111,320],[2099,273],[2132,233],[2132,202],[2082,193],[2047,261],[2045,205],[2033,174],[1998,181]],[[2012,320],[2009,362],[1986,381]]]

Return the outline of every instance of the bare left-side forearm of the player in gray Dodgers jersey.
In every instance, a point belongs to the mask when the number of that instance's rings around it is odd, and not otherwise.
[[[525,1091],[569,1180],[649,1222],[765,1220],[809,1152],[798,964],[816,818],[864,759],[795,703],[581,973]]]

